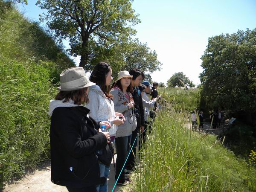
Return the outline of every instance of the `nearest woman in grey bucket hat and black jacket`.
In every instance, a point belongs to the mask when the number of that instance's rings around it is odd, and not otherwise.
[[[96,185],[103,184],[99,175],[96,151],[106,148],[109,132],[100,126],[110,127],[107,121],[96,122],[84,107],[89,81],[83,67],[71,67],[60,75],[60,92],[49,104],[51,116],[51,181],[66,186],[69,192],[96,192]]]

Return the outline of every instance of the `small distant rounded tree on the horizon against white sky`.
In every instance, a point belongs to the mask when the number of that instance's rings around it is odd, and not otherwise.
[[[169,87],[184,87],[184,84],[189,85],[189,87],[195,87],[195,84],[193,84],[193,81],[190,81],[186,75],[183,74],[183,72],[175,73],[168,81],[167,84]]]

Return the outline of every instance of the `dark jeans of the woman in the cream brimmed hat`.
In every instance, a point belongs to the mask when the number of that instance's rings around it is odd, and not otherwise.
[[[125,164],[125,160],[130,151],[131,135],[126,137],[116,137],[115,146],[116,146],[116,180],[122,170],[122,167]],[[125,170],[123,169],[121,175],[117,181],[118,183],[125,182]]]

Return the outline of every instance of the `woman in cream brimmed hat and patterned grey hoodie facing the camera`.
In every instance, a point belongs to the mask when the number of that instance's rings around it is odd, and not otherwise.
[[[118,73],[117,81],[112,85],[113,89],[110,93],[113,95],[113,102],[115,111],[122,113],[125,116],[126,121],[124,124],[119,125],[116,131],[116,180],[122,170],[122,166],[125,163],[125,159],[128,155],[131,143],[131,133],[137,127],[137,120],[134,116],[134,100],[131,93],[133,89],[131,87],[132,76],[128,71],[121,71]],[[125,180],[125,172],[122,170],[118,179],[118,184],[124,184],[128,181]]]

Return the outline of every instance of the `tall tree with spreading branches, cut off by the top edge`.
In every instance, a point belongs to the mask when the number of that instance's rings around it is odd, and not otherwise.
[[[93,52],[127,41],[136,31],[131,26],[140,22],[131,7],[132,0],[38,0],[47,14],[49,29],[62,41],[70,40],[70,54],[81,55],[80,66],[90,69]]]

